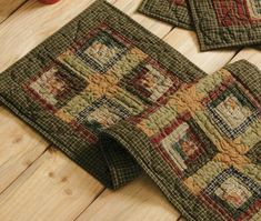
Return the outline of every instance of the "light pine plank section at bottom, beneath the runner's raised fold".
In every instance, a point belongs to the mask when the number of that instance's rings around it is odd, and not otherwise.
[[[106,190],[77,221],[175,221],[180,213],[147,177],[118,191]]]

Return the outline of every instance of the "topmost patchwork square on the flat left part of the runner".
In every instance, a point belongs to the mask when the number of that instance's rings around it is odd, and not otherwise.
[[[129,43],[110,29],[100,32],[80,44],[77,54],[99,73],[106,73],[129,50]]]

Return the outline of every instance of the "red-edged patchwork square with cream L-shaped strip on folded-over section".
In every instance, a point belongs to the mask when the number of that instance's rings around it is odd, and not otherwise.
[[[218,153],[214,144],[189,113],[174,119],[153,135],[151,142],[182,179],[193,174]]]

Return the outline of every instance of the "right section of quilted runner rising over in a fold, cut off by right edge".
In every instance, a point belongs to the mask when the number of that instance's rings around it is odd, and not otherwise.
[[[188,220],[261,220],[261,72],[249,62],[181,86],[101,139],[128,149]]]

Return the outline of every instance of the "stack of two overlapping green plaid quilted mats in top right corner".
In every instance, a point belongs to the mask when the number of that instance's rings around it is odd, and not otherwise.
[[[260,0],[144,0],[140,12],[193,29],[201,50],[260,46]]]

